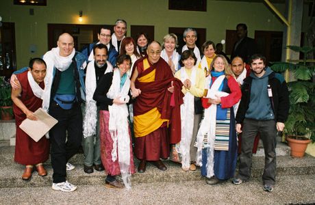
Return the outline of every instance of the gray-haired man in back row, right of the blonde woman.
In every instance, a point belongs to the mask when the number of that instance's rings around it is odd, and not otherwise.
[[[186,42],[186,45],[183,46],[181,49],[181,52],[184,52],[188,49],[192,50],[194,52],[194,55],[197,57],[197,65],[199,65],[201,61],[201,55],[198,47],[196,46],[197,41],[197,31],[192,28],[185,29],[184,33],[184,42]]]

